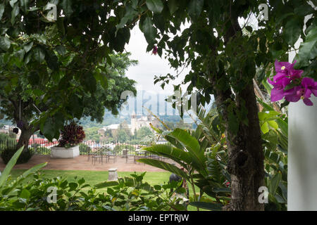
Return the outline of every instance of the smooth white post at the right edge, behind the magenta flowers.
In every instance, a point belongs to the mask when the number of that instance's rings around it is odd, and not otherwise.
[[[308,18],[305,18],[305,23]],[[298,48],[302,39],[295,44]],[[292,63],[295,53],[290,53]],[[317,98],[288,107],[287,210],[317,210]]]

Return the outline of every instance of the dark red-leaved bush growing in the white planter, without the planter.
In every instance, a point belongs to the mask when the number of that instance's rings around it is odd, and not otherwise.
[[[59,139],[58,147],[71,147],[76,146],[85,139],[85,131],[82,126],[77,125],[75,122],[70,122],[61,131],[61,139]]]

